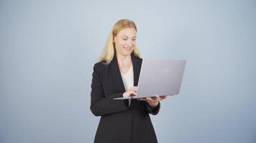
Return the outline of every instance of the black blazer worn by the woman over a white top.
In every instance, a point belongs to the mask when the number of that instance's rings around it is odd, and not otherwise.
[[[142,59],[132,55],[134,86],[137,86]],[[101,116],[94,139],[95,143],[155,143],[149,114],[157,114],[160,104],[152,109],[145,101],[114,100],[125,92],[119,66],[114,57],[109,65],[103,61],[93,66],[91,84],[91,112]]]

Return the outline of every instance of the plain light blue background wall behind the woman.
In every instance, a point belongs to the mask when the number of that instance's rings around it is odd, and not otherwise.
[[[93,142],[93,64],[119,19],[146,59],[187,59],[158,141],[256,142],[256,1],[0,1],[0,142]]]

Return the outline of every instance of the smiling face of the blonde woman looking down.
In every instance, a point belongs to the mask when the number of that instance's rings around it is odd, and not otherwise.
[[[132,53],[134,46],[136,46],[136,33],[134,28],[126,28],[114,36],[116,54],[129,56]]]

